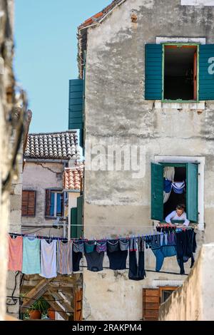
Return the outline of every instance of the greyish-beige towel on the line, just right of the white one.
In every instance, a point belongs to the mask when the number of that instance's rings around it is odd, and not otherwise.
[[[72,241],[57,242],[57,272],[59,274],[72,274]]]

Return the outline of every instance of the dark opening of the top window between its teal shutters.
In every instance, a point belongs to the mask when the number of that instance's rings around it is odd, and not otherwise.
[[[164,46],[164,100],[197,100],[198,46]]]

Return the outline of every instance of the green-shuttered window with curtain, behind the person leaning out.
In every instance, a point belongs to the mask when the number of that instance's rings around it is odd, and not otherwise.
[[[151,163],[151,219],[163,222],[180,203],[188,220],[198,222],[198,164]]]

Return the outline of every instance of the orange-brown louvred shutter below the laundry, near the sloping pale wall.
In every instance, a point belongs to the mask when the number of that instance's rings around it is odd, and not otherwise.
[[[160,290],[143,289],[143,321],[158,321]]]

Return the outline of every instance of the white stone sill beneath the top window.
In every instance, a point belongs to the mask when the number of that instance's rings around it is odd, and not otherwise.
[[[155,101],[155,109],[178,109],[178,110],[205,110],[205,101],[200,102],[162,102]]]

